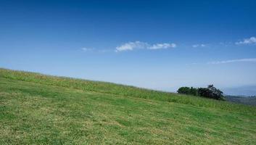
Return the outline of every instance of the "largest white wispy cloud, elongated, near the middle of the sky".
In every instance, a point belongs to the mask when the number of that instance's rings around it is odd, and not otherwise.
[[[134,49],[169,49],[176,48],[176,43],[155,43],[150,45],[146,42],[135,41],[124,43],[115,48],[115,51],[132,51]]]

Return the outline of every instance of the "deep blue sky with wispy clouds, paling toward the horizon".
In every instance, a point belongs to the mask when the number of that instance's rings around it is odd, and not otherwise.
[[[256,1],[0,0],[0,67],[165,91],[256,86]]]

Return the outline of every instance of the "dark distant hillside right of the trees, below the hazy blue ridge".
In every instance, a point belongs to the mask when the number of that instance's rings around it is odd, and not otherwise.
[[[225,96],[227,101],[256,106],[256,96]]]

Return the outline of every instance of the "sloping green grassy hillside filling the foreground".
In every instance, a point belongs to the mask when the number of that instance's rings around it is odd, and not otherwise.
[[[0,144],[256,144],[256,107],[0,69]]]

